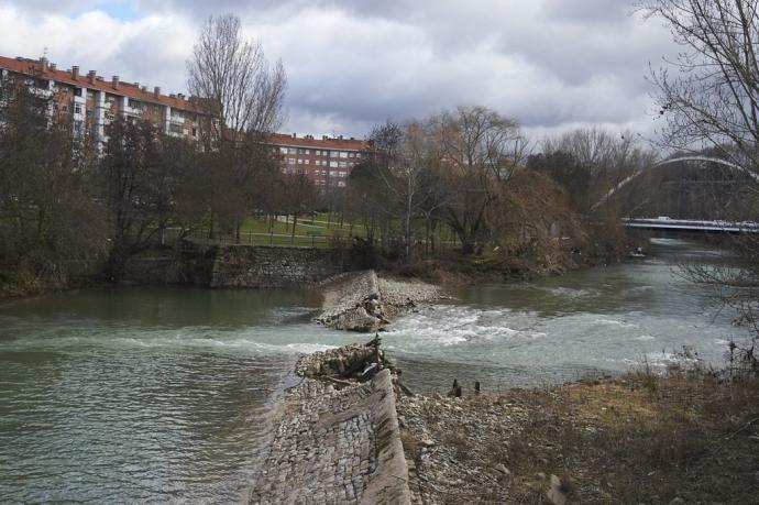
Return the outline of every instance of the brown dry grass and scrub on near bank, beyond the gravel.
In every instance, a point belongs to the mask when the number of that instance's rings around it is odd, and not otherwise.
[[[640,372],[509,396],[528,420],[492,459],[510,465],[517,490],[553,473],[571,503],[757,503],[756,380]]]

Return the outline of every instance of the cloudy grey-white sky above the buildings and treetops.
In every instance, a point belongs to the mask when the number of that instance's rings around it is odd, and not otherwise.
[[[185,91],[209,14],[282,58],[288,132],[364,136],[385,119],[484,105],[537,139],[651,134],[649,63],[675,51],[635,0],[0,0],[0,54]]]

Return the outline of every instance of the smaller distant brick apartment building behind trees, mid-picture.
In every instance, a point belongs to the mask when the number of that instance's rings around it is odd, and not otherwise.
[[[322,189],[345,187],[353,167],[371,152],[369,141],[342,136],[275,133],[267,142],[279,152],[283,172],[306,174]]]

